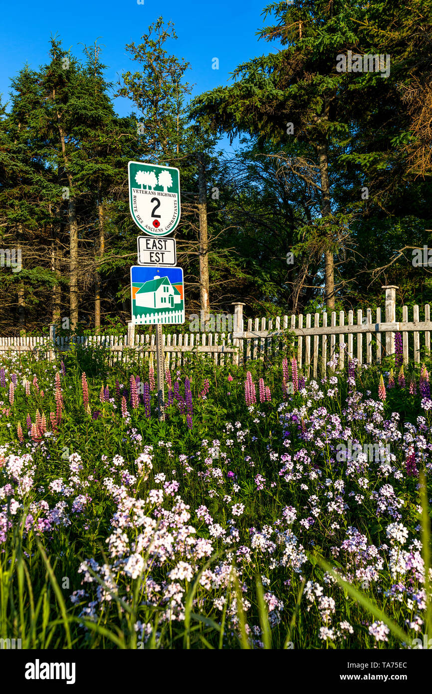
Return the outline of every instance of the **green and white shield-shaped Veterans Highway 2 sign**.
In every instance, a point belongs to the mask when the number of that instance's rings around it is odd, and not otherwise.
[[[129,208],[135,224],[153,237],[171,234],[180,221],[180,172],[129,162]]]

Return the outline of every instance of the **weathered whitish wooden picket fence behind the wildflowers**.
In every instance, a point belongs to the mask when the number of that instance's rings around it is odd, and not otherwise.
[[[316,377],[338,364],[341,368],[347,359],[356,357],[361,364],[379,364],[385,355],[395,352],[395,332],[401,332],[404,363],[408,360],[420,364],[423,354],[430,353],[432,322],[430,307],[424,307],[424,319],[420,321],[420,309],[413,307],[412,320],[408,320],[408,307],[402,307],[402,321],[396,321],[396,289],[386,289],[384,316],[381,308],[356,312],[349,310],[331,314],[316,313],[313,316],[277,316],[275,321],[266,318],[248,319],[246,330],[243,321],[243,303],[234,302],[234,331],[227,333],[189,332],[163,336],[166,366],[179,368],[187,363],[191,353],[209,355],[216,364],[244,364],[251,359],[275,361],[286,353],[286,335],[294,336],[294,353],[300,368]],[[383,320],[384,319],[384,320]],[[347,321],[347,322],[345,322]],[[240,328],[240,329],[239,329]],[[420,336],[422,335],[422,340]],[[155,334],[135,335],[135,325],[129,323],[128,335],[90,335],[86,337],[56,337],[50,328],[49,337],[0,338],[0,353],[33,351],[40,358],[53,359],[56,352],[70,349],[71,342],[84,348],[107,350],[110,363],[130,361],[138,353],[144,359],[153,359]],[[354,344],[355,341],[355,344]]]

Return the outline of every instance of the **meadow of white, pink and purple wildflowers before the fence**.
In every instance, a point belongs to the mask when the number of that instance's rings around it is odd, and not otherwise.
[[[432,637],[430,362],[0,368],[0,637],[411,649]],[[279,358],[279,357],[278,357]],[[291,387],[289,387],[291,386]]]

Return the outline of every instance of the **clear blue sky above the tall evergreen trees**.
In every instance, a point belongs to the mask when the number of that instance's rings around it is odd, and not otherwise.
[[[7,100],[10,78],[26,62],[37,69],[48,60],[49,37],[58,35],[64,49],[82,56],[83,44],[103,44],[102,62],[107,65],[107,81],[116,82],[117,73],[133,69],[125,51],[132,41],[139,43],[149,24],[162,15],[175,24],[178,40],[169,51],[191,63],[187,81],[194,84],[193,95],[229,83],[230,72],[254,56],[277,50],[277,44],[259,41],[263,26],[264,0],[58,0],[3,3],[0,27],[0,94]],[[267,20],[267,24],[270,20]],[[219,69],[212,69],[212,59]],[[128,115],[127,99],[114,101],[119,115]],[[225,147],[227,140],[221,143]],[[230,149],[230,147],[228,147]]]

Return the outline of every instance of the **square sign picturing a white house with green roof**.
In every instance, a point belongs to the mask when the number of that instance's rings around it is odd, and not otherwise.
[[[183,271],[180,267],[130,268],[132,323],[184,323]]]

